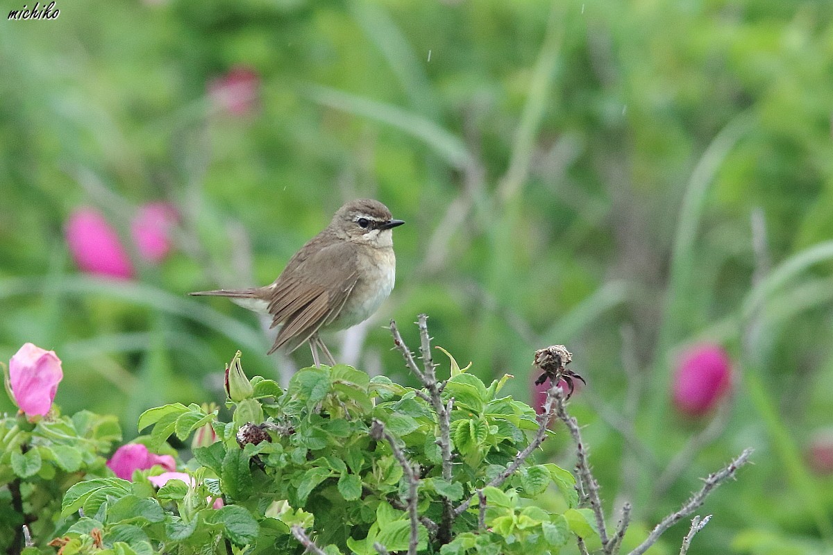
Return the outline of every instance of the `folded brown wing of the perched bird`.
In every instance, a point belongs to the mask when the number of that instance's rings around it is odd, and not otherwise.
[[[269,298],[272,327],[282,325],[270,354],[284,346],[292,352],[335,320],[358,280],[354,248],[337,241],[298,257],[297,265],[290,260]]]

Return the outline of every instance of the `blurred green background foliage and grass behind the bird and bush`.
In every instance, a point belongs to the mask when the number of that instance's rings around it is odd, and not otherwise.
[[[237,348],[249,375],[309,364],[185,294],[271,282],[372,196],[407,221],[397,287],[331,339],[342,359],[412,380],[383,326],[413,342],[426,312],[436,344],[530,399],[534,349],[566,344],[608,508],[632,500],[650,528],[751,445],[691,553],[831,553],[830,2],[55,7],[0,32],[0,359],[54,349],[65,413],[118,414],[129,438],[150,406],[221,399]],[[234,72],[237,101],[217,92]],[[158,265],[127,240],[150,201],[180,215]],[[132,279],[77,270],[80,206],[116,226]],[[704,340],[731,354],[734,395],[693,419],[671,380]],[[569,467],[564,436],[546,456]]]

